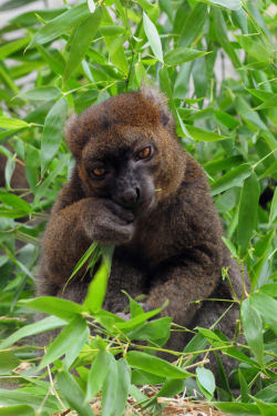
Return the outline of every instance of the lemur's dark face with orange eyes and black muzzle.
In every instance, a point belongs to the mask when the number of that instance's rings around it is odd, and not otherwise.
[[[95,141],[95,142],[94,142]],[[129,129],[101,132],[91,139],[82,155],[82,174],[88,194],[107,197],[136,212],[155,201],[153,170],[158,151],[150,133]]]

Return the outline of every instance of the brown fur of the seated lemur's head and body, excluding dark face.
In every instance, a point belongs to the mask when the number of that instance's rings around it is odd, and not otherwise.
[[[64,294],[62,290],[92,240],[116,245],[105,300],[112,312],[123,310],[126,297],[121,290],[125,290],[132,296],[145,293],[148,307],[168,300],[163,314],[181,325],[212,325],[226,303],[191,302],[230,298],[222,282],[224,266],[230,266],[230,278],[242,294],[240,275],[222,243],[223,229],[205,175],[174,130],[163,97],[152,89],[113,97],[70,119],[66,138],[76,165],[44,235],[39,295],[83,301],[89,277],[83,281],[79,275]],[[117,223],[117,213],[106,206],[110,195],[91,181],[88,163],[116,158],[124,146],[146,143],[150,136],[156,152],[148,162],[148,175],[158,192],[153,204],[134,219],[122,209]],[[222,328],[230,336],[234,324],[233,316],[223,321]],[[186,341],[185,336],[172,338],[171,346],[182,349]]]

